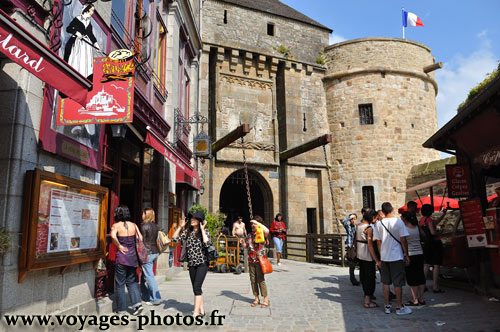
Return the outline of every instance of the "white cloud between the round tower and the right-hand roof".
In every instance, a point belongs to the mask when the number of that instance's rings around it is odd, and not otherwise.
[[[498,59],[491,51],[487,31],[481,31],[477,37],[481,40],[478,50],[468,55],[457,54],[444,63],[443,69],[436,71],[439,87],[436,99],[439,127],[457,114],[458,105],[467,98],[470,89],[498,65]]]

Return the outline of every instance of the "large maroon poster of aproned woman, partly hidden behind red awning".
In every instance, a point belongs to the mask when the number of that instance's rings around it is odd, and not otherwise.
[[[52,33],[52,40],[59,40],[53,50],[82,76],[92,81],[95,57],[102,57],[111,45],[111,30],[92,4],[72,1],[63,5],[60,29]],[[83,27],[83,28],[82,28]],[[62,95],[64,97],[64,95]],[[44,150],[99,170],[102,164],[104,127],[99,124],[57,125],[61,93],[45,87],[40,124],[40,141]]]

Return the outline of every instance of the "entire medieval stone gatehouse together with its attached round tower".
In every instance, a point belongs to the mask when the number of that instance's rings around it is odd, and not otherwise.
[[[243,151],[254,214],[269,223],[281,212],[293,234],[338,228],[322,148],[280,161],[281,152],[332,135],[338,219],[383,201],[403,205],[411,167],[439,159],[422,147],[437,129],[430,49],[398,38],[328,46],[330,33],[278,0],[205,1],[201,113],[214,141],[251,128],[201,169],[201,203],[226,213],[228,225],[248,220]]]

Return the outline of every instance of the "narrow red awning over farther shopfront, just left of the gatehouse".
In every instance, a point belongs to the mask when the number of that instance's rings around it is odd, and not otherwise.
[[[196,170],[181,159],[175,151],[166,143],[162,143],[159,139],[148,133],[146,136],[146,144],[151,146],[156,151],[160,152],[165,158],[175,164],[177,183],[185,183],[196,190],[200,189],[200,177]]]

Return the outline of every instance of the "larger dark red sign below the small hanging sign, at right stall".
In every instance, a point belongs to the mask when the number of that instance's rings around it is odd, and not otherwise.
[[[474,198],[460,201],[460,212],[462,213],[469,248],[485,247],[488,243],[486,241],[486,231],[484,229],[481,200],[479,198]]]

